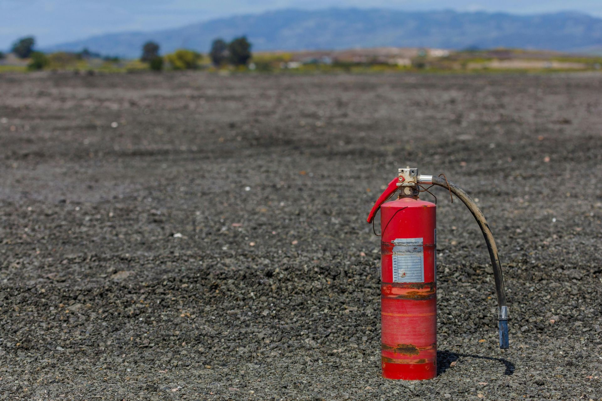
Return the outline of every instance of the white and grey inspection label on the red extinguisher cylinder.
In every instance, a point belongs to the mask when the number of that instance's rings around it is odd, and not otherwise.
[[[422,238],[397,238],[393,241],[393,283],[424,283]]]

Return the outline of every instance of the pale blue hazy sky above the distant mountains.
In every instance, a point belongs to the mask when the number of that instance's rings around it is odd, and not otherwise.
[[[154,31],[235,14],[279,8],[395,8],[505,11],[574,10],[602,17],[602,0],[0,0],[0,49],[23,35],[40,46],[120,31]]]

